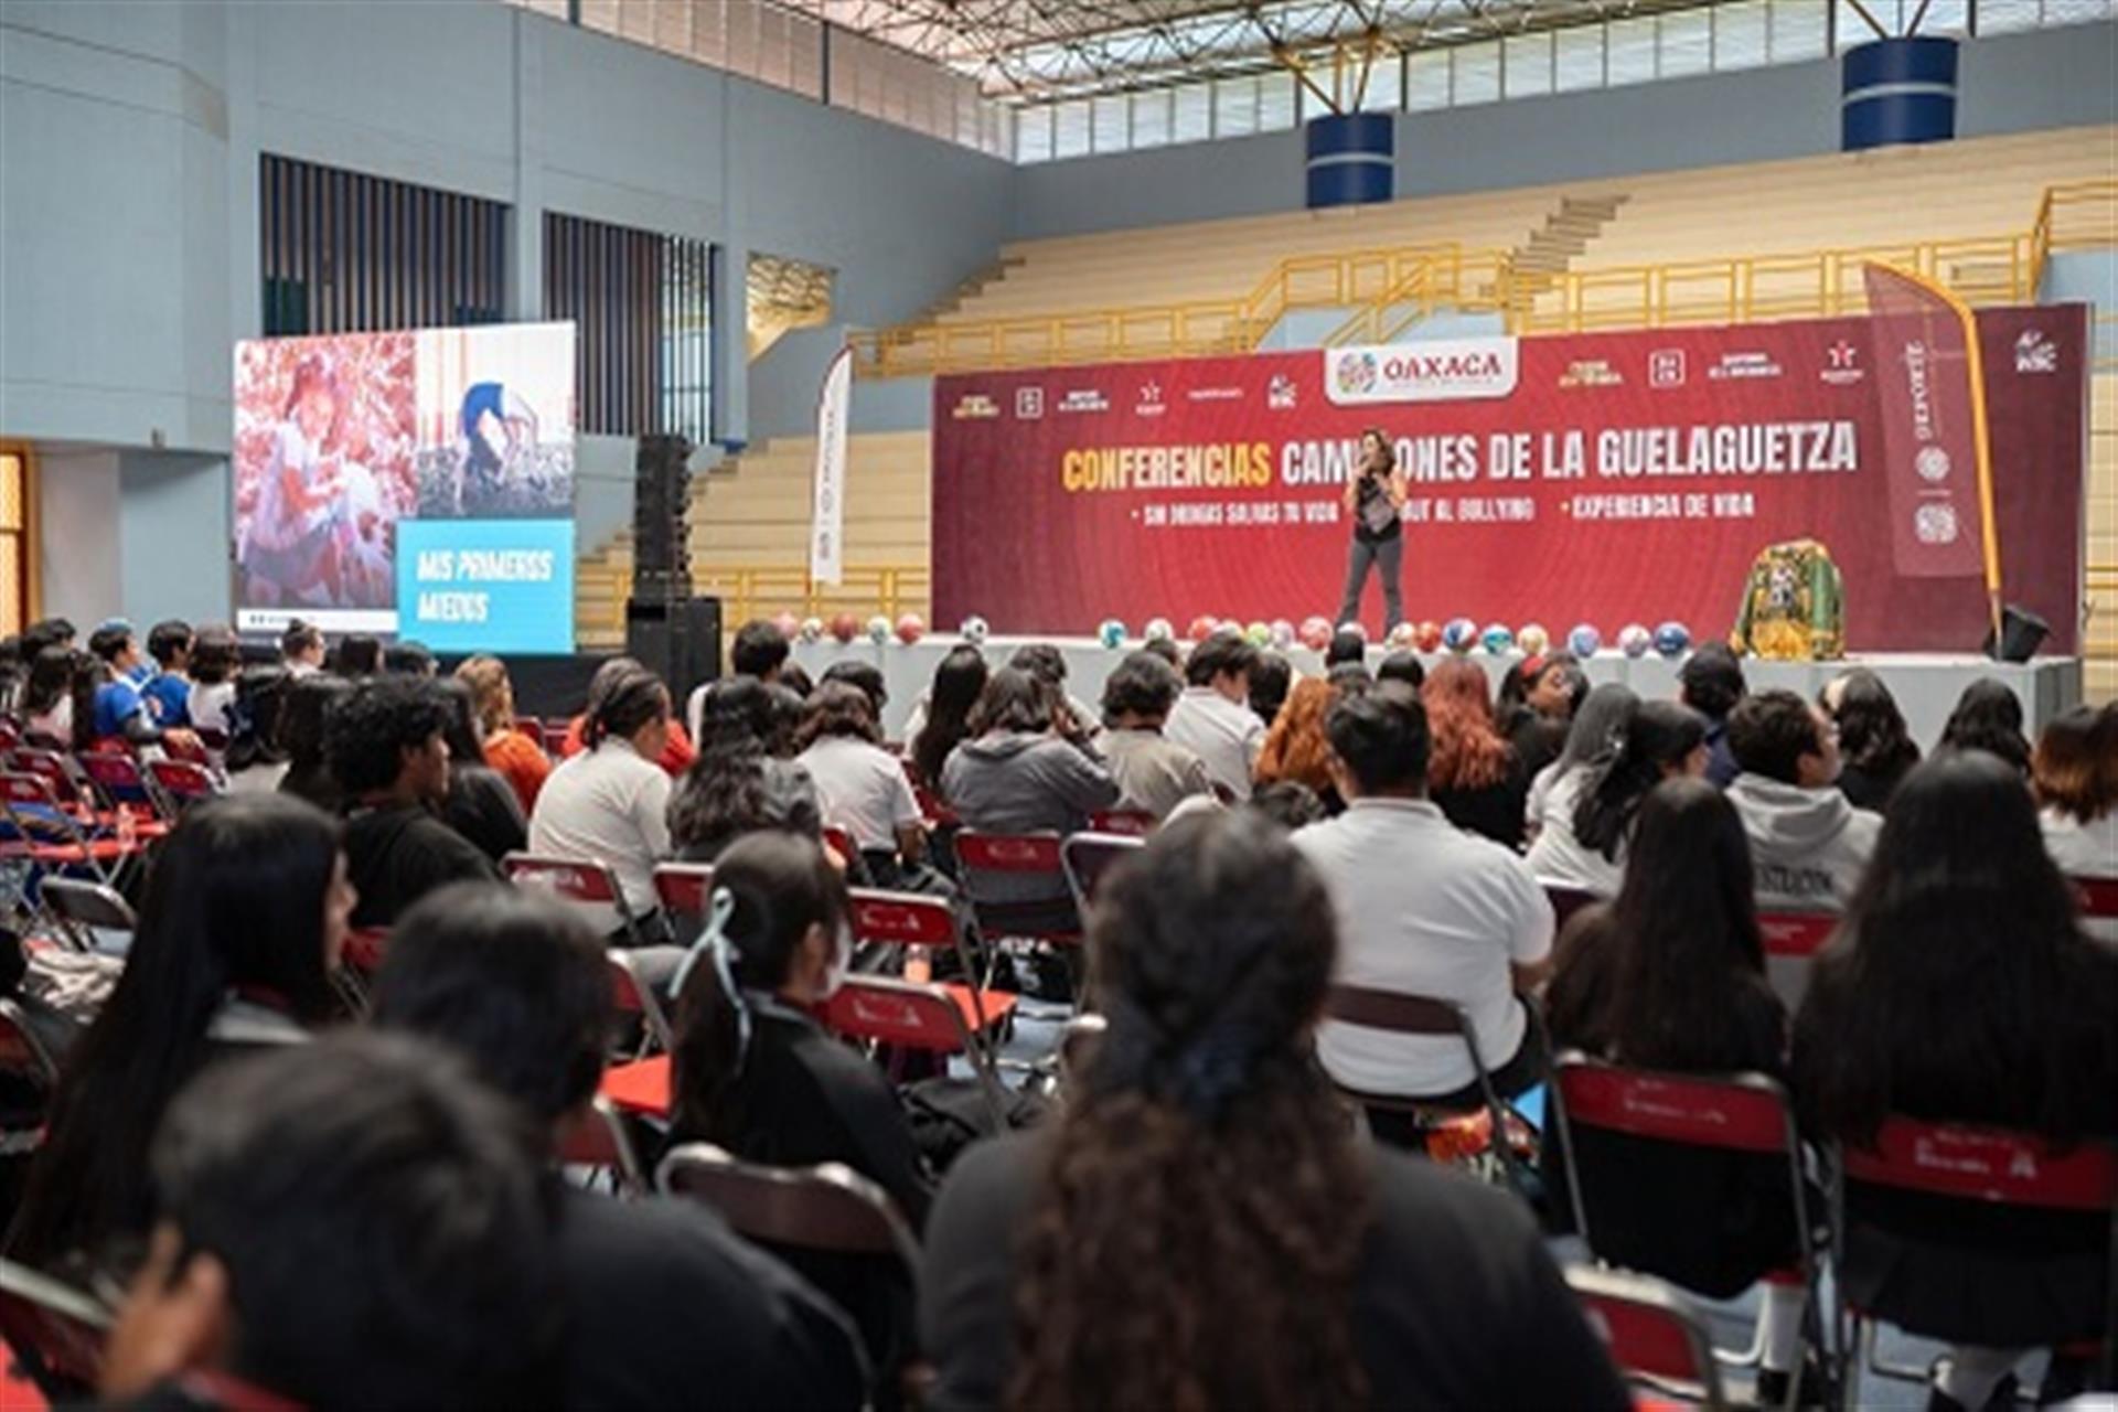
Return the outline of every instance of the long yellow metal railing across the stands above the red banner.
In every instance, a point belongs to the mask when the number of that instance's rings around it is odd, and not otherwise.
[[[1974,305],[2038,296],[2052,252],[2118,243],[2118,182],[2048,186],[2018,235],[1821,248],[1565,273],[1516,271],[1453,243],[1279,260],[1241,298],[1199,298],[907,324],[854,334],[866,377],[1243,354],[1294,309],[1353,309],[1326,343],[1387,343],[1436,309],[1502,311],[1516,334],[1821,318],[1866,309],[1862,265],[1885,260]]]

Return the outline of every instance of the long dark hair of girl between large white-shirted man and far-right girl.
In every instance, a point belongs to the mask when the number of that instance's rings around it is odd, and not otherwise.
[[[1610,1010],[1597,1048],[1644,1069],[1726,1067],[1745,1014],[1760,999],[1777,1008],[1735,804],[1703,779],[1654,785],[1610,915]]]

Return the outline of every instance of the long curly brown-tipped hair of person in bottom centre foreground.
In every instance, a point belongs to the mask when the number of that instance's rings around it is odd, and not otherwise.
[[[1021,1236],[1006,1406],[1366,1406],[1370,1183],[1309,1044],[1324,883],[1254,811],[1180,819],[1089,944],[1110,1027]]]

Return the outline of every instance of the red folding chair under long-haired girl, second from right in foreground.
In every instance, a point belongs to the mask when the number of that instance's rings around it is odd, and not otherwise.
[[[1794,1274],[1809,1291],[1805,1319],[1817,1353],[1828,1353],[1821,1340],[1817,1310],[1817,1260],[1811,1251],[1809,1198],[1802,1183],[1802,1145],[1794,1128],[1794,1103],[1788,1090],[1764,1073],[1661,1073],[1625,1069],[1565,1050],[1552,1061],[1552,1118],[1567,1149],[1567,1194],[1574,1200],[1574,1221],[1588,1251],[1603,1257],[1595,1243],[1595,1217],[1582,1181],[1586,1158],[1578,1135],[1582,1130],[1618,1133],[1633,1139],[1711,1152],[1741,1152],[1779,1158],[1788,1166],[1788,1202],[1794,1217]],[[1771,1274],[1766,1279],[1773,1279]],[[1762,1348],[1720,1353],[1728,1363],[1754,1363]],[[1800,1378],[1788,1380],[1788,1406],[1800,1393]]]

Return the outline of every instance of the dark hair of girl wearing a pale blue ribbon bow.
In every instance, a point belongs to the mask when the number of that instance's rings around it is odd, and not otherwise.
[[[834,934],[845,925],[845,879],[824,849],[798,834],[748,834],[714,862],[714,891],[735,900],[726,938],[731,974],[743,991],[773,993],[788,980],[794,951],[811,925]],[[671,1054],[671,1133],[729,1141],[735,1137],[729,1090],[741,1075],[735,997],[710,959],[690,967],[676,997]]]

